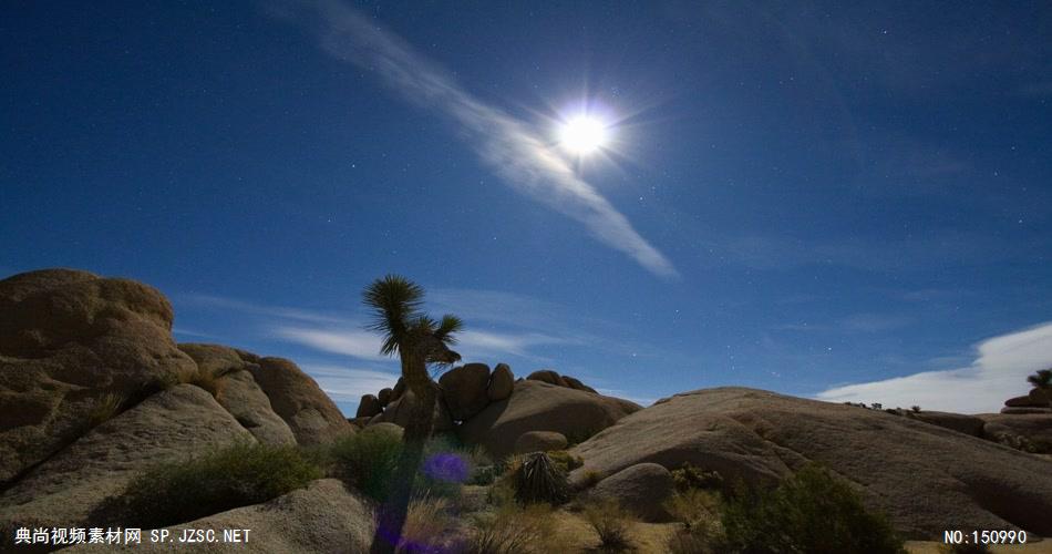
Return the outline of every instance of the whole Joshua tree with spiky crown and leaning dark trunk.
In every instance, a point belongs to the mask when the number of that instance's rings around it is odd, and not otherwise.
[[[450,350],[453,335],[464,326],[456,316],[436,321],[421,311],[424,289],[399,275],[388,275],[365,287],[363,300],[372,309],[369,329],[383,335],[380,352],[398,355],[402,378],[412,402],[412,418],[403,434],[402,453],[395,464],[391,493],[380,509],[371,552],[393,553],[402,536],[413,481],[423,458],[424,443],[434,423],[437,384],[427,373],[429,363],[450,365],[461,355]],[[406,399],[408,400],[408,399]]]

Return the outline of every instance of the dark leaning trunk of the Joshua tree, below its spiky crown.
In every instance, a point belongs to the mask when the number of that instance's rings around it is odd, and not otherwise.
[[[424,455],[424,444],[434,424],[436,384],[427,375],[423,357],[406,353],[403,351],[402,375],[405,376],[405,387],[415,397],[415,402],[402,435],[402,453],[395,465],[390,493],[377,517],[377,532],[370,548],[372,554],[391,554],[398,547],[409,513],[413,482]]]

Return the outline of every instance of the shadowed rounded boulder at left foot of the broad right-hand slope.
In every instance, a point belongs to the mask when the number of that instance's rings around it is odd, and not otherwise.
[[[599,501],[612,500],[643,521],[669,521],[664,502],[672,495],[672,473],[657,463],[637,463],[599,482],[587,494]]]

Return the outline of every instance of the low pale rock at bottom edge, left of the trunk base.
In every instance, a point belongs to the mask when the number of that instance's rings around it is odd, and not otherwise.
[[[374,526],[368,502],[348,491],[339,480],[322,479],[310,483],[307,489],[292,491],[262,504],[237,507],[166,529],[172,540],[185,529],[212,530],[220,540],[224,531],[249,530],[247,543],[212,543],[205,547],[209,553],[244,554],[251,551],[330,554],[368,552]],[[151,542],[144,531],[142,544],[81,544],[63,552],[148,554],[178,550],[173,548],[172,544]]]

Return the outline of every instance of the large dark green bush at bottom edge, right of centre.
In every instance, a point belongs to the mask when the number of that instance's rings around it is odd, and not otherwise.
[[[855,491],[814,465],[776,489],[735,494],[722,524],[722,552],[905,552],[884,515],[868,512]]]

